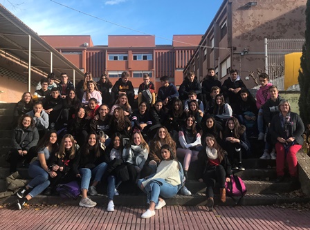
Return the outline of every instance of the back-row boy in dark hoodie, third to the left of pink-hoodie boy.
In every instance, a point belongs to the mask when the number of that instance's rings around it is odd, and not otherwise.
[[[197,98],[201,99],[201,86],[197,80],[197,77],[195,77],[194,72],[189,72],[187,77],[182,82],[179,88],[180,99],[182,101],[188,99],[188,93],[190,93],[190,91],[194,91]]]

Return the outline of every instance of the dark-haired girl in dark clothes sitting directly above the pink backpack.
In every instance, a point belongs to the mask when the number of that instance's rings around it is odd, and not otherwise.
[[[238,119],[230,117],[227,119],[226,128],[224,131],[224,149],[228,153],[228,158],[233,164],[233,169],[244,170],[242,165],[242,151],[245,155],[249,150],[249,143],[246,138],[246,127],[240,125]]]

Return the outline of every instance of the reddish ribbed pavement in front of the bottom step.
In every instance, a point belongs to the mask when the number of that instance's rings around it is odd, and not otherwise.
[[[0,208],[0,229],[309,229],[310,211],[272,206],[215,207],[167,206],[149,219],[145,207],[104,205],[92,209],[76,205],[28,205],[17,211]]]

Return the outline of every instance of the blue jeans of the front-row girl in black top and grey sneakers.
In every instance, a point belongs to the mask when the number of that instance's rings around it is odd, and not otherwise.
[[[80,174],[82,175],[81,189],[89,189],[89,183],[91,182],[91,178],[93,176],[95,176],[94,181],[100,182],[107,166],[107,163],[102,162],[101,164],[98,164],[98,166],[95,166],[92,170],[86,168],[79,169]]]

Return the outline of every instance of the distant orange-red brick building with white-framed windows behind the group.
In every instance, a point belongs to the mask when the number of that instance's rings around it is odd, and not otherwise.
[[[167,75],[176,85],[183,81],[183,70],[202,35],[174,35],[172,45],[156,45],[151,35],[109,35],[107,46],[93,46],[91,36],[41,36],[80,70],[93,77],[102,73],[116,82],[122,71],[128,71],[135,88],[149,73],[156,88],[159,77]]]

